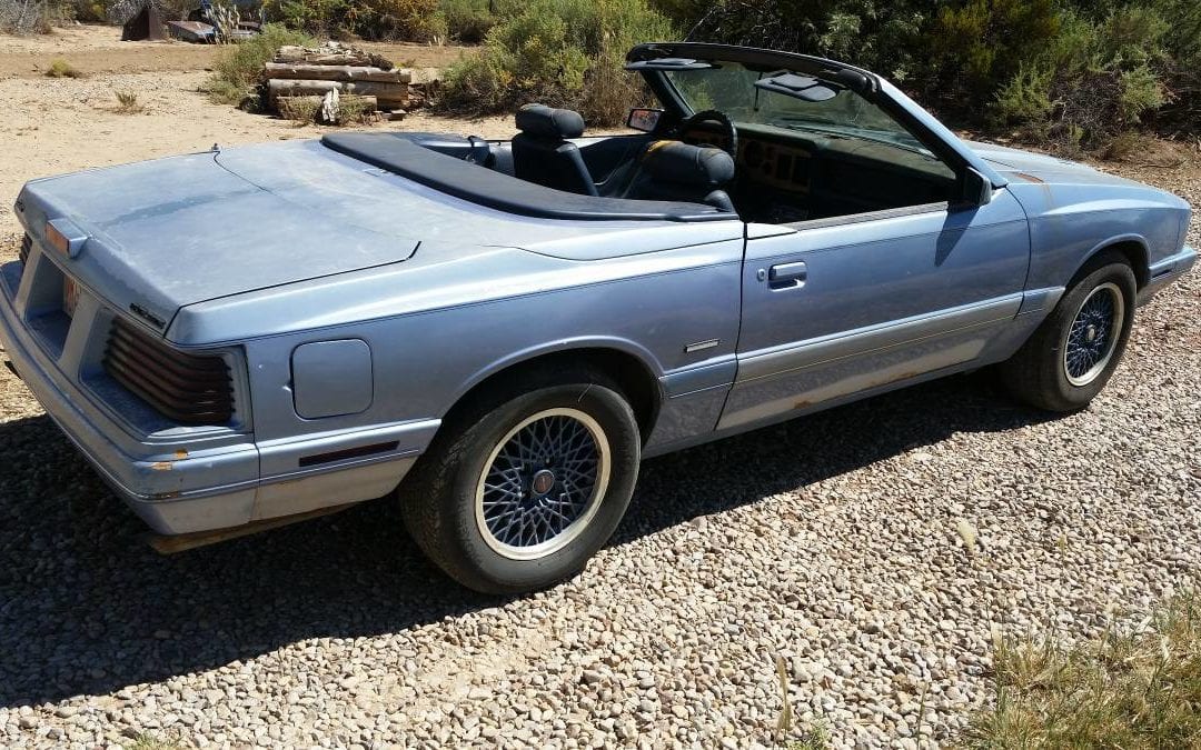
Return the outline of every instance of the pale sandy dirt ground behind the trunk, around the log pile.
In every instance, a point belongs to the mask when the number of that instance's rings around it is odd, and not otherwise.
[[[315,138],[329,128],[299,127],[277,118],[210,103],[199,91],[217,47],[183,42],[121,42],[120,29],[77,26],[49,36],[0,36],[0,235],[18,229],[12,203],[37,176],[106,167],[173,154],[288,138]],[[394,60],[438,66],[465,48],[369,44]],[[62,58],[83,78],[47,78]],[[137,94],[139,114],[118,114],[116,92]],[[411,113],[376,128],[449,131],[507,138],[510,118],[452,120]],[[11,242],[0,251],[11,252]]]

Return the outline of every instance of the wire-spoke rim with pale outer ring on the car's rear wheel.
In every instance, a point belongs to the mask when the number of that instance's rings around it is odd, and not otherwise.
[[[596,515],[609,486],[609,440],[588,414],[556,408],[526,418],[496,444],[476,487],[476,526],[503,557],[562,550]]]

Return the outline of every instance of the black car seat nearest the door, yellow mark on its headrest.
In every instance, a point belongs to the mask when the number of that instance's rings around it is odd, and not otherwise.
[[[733,179],[734,158],[725,151],[680,140],[656,140],[647,144],[622,197],[706,203],[734,214],[734,204],[722,190]]]

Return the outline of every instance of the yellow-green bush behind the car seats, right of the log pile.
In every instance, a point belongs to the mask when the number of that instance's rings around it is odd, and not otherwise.
[[[447,72],[443,106],[453,112],[513,112],[538,101],[615,125],[637,100],[639,80],[622,70],[635,43],[673,36],[645,0],[509,0],[484,50]]]

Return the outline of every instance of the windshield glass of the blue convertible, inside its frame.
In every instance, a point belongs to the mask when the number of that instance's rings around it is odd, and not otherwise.
[[[719,109],[735,122],[862,138],[930,155],[888,113],[837,84],[827,84],[835,94],[824,101],[806,101],[754,85],[779,73],[715,61],[715,67],[667,71],[665,76],[693,112]]]

